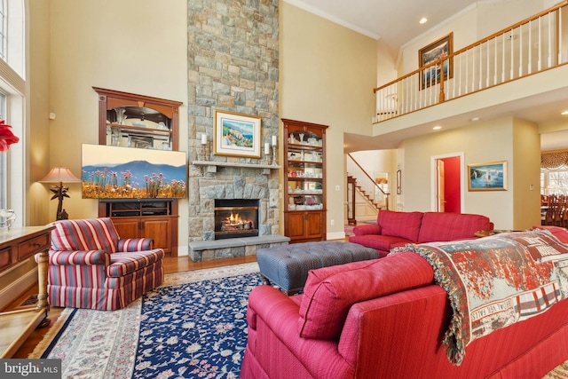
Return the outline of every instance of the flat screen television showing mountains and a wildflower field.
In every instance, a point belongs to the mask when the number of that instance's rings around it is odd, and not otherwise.
[[[185,152],[83,144],[83,199],[184,198],[185,162]]]

